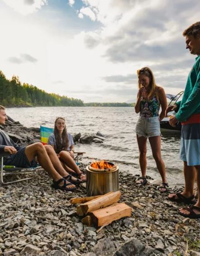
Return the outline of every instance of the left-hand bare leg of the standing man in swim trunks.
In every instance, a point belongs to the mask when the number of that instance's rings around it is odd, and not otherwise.
[[[191,197],[194,194],[194,182],[196,180],[196,170],[194,166],[188,166],[187,162],[184,161],[184,178],[185,188],[181,193],[184,197]],[[172,198],[175,194],[170,194],[168,197]],[[178,199],[176,196],[175,199]]]

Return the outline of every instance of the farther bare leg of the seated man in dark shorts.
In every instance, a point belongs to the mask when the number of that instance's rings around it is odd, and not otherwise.
[[[51,145],[45,145],[44,146],[54,168],[57,170],[57,172],[62,176],[66,177],[69,175],[69,173],[63,168],[58,156],[56,155],[53,147]],[[70,156],[71,157],[71,156]],[[72,158],[72,157],[71,157]],[[72,177],[72,181],[76,181],[77,178]]]

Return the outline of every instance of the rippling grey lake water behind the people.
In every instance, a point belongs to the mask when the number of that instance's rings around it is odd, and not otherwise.
[[[103,144],[77,144],[77,151],[87,152],[83,161],[105,159],[119,165],[120,170],[140,174],[135,125],[138,114],[133,107],[35,107],[8,108],[7,114],[27,127],[53,127],[57,116],[65,117],[68,132],[106,136]],[[170,185],[182,185],[183,162],[179,159],[180,135],[163,134],[162,157]],[[147,175],[160,178],[148,142]]]

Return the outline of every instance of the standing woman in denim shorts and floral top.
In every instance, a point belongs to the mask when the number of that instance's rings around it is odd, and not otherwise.
[[[166,192],[168,183],[166,180],[165,164],[161,157],[160,121],[165,116],[167,98],[164,89],[157,86],[151,69],[145,67],[137,71],[138,74],[138,96],[135,104],[135,112],[140,113],[136,134],[139,147],[139,162],[142,176],[137,183],[145,185],[147,167],[147,138],[149,139],[153,158],[156,161],[158,171],[162,177],[162,184],[158,187],[161,192]],[[160,105],[162,108],[159,114]]]

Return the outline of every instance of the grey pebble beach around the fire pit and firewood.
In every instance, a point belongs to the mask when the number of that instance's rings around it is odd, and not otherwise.
[[[39,139],[37,130],[16,125],[3,129],[23,132],[24,144]],[[84,172],[89,159],[80,162]],[[73,197],[86,196],[86,183],[72,192],[55,190],[40,168],[32,180],[0,185],[0,255],[200,255],[200,219],[180,216],[180,205],[169,201],[168,193],[160,193],[151,177],[145,186],[137,185],[137,178],[120,170],[120,202],[132,207],[132,216],[102,228],[83,225],[77,205],[70,203]],[[174,187],[169,192],[182,190]]]

